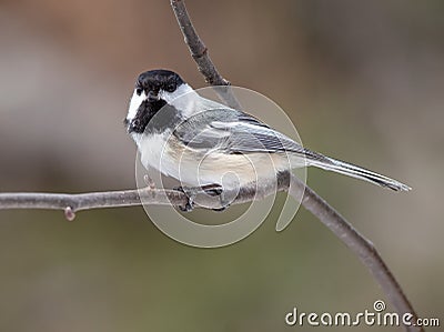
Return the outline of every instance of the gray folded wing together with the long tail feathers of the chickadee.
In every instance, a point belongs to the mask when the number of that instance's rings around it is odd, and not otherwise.
[[[260,120],[232,109],[216,109],[198,113],[181,123],[173,132],[193,149],[225,153],[291,152],[305,157],[309,164],[324,170],[362,179],[393,190],[411,188],[387,177],[302,148],[286,135]]]

